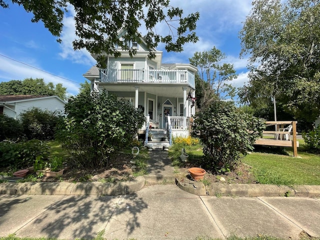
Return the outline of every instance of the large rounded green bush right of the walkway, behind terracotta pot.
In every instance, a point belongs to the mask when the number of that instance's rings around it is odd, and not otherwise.
[[[198,136],[204,145],[201,164],[219,172],[231,170],[241,154],[252,150],[265,128],[264,120],[224,101],[212,102],[194,118],[192,135]]]

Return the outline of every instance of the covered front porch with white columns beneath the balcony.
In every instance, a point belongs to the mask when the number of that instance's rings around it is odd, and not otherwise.
[[[188,83],[108,83],[98,82],[98,88],[129,101],[140,109],[145,124],[151,129],[188,130],[189,117],[195,114],[195,89]],[[148,122],[148,123],[147,123]]]

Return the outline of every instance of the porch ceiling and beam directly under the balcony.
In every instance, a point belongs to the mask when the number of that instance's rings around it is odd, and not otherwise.
[[[145,83],[145,84],[134,84],[134,83],[127,83],[127,84],[103,84],[103,82],[99,83],[100,88],[105,88],[108,91],[130,91],[134,92],[135,87],[139,87],[139,92],[149,92],[152,94],[157,94],[158,96],[167,96],[167,97],[183,97],[183,86],[187,87],[186,94],[189,93],[190,89],[191,92],[194,91],[192,87],[188,84],[170,84],[167,83]]]

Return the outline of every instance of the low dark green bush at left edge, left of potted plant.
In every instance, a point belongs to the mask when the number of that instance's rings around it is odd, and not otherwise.
[[[0,167],[26,168],[34,164],[37,156],[48,157],[48,145],[40,140],[0,142]]]

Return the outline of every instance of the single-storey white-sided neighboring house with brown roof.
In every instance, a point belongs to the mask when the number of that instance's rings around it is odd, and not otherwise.
[[[14,119],[32,107],[63,113],[65,101],[58,96],[0,95],[0,114]]]

